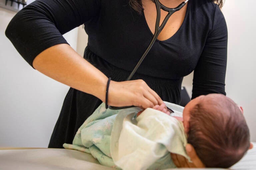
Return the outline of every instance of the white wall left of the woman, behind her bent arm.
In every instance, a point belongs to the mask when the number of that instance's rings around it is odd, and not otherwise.
[[[5,37],[14,15],[0,8],[0,147],[47,147],[69,87],[34,70]],[[64,36],[74,49],[77,33]]]

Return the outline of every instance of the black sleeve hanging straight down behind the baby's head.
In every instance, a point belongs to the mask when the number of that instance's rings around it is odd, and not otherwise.
[[[212,29],[194,70],[192,99],[210,93],[225,93],[228,32],[225,18],[216,5]]]

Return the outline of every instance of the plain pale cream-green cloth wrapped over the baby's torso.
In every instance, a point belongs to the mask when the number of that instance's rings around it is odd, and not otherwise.
[[[182,111],[183,108],[179,109]],[[123,170],[155,169],[150,165],[156,165],[157,160],[168,163],[166,167],[170,168],[173,162],[169,152],[189,159],[186,144],[183,125],[177,119],[151,108],[136,118],[136,110],[130,108],[122,110],[116,117],[110,152],[114,163]]]

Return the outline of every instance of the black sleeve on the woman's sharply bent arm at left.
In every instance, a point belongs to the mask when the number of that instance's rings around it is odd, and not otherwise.
[[[32,66],[43,50],[67,43],[63,34],[97,16],[100,4],[100,0],[36,0],[13,17],[5,34]]]

